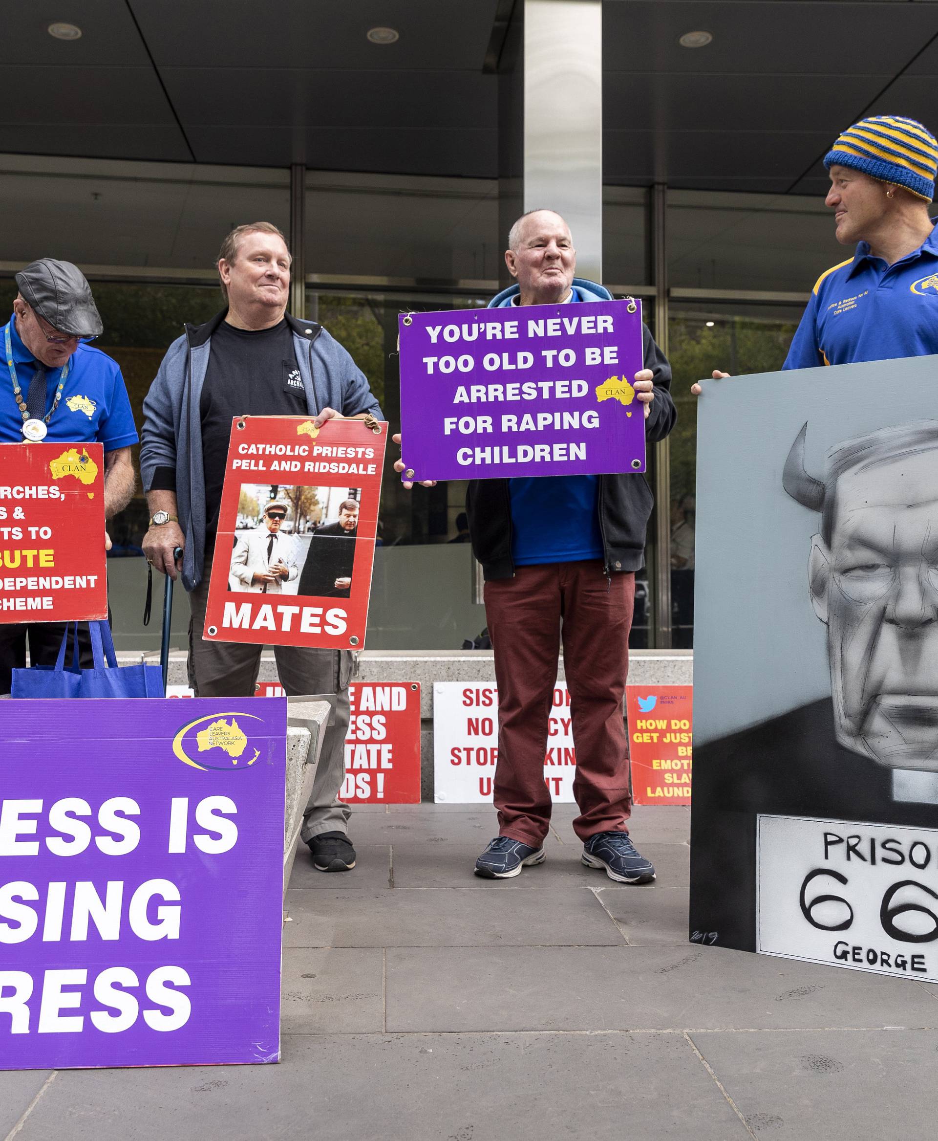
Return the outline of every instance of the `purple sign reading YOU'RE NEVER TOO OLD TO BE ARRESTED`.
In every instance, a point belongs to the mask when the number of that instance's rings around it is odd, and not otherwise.
[[[399,319],[405,479],[645,470],[639,302]]]

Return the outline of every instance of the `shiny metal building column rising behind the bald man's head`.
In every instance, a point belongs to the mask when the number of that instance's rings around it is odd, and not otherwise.
[[[522,213],[563,215],[577,274],[603,273],[602,0],[519,0],[500,54],[499,241]],[[501,266],[503,278],[508,275]]]

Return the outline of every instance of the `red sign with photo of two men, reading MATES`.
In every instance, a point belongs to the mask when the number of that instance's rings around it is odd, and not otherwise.
[[[203,637],[361,649],[386,439],[361,420],[231,422]]]

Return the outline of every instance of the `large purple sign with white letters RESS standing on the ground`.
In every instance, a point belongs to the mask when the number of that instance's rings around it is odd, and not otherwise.
[[[278,1061],[286,699],[0,717],[0,1069]]]

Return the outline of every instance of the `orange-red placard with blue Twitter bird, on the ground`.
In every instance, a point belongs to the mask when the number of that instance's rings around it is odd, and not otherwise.
[[[693,691],[693,686],[626,686],[634,803],[691,803]]]

